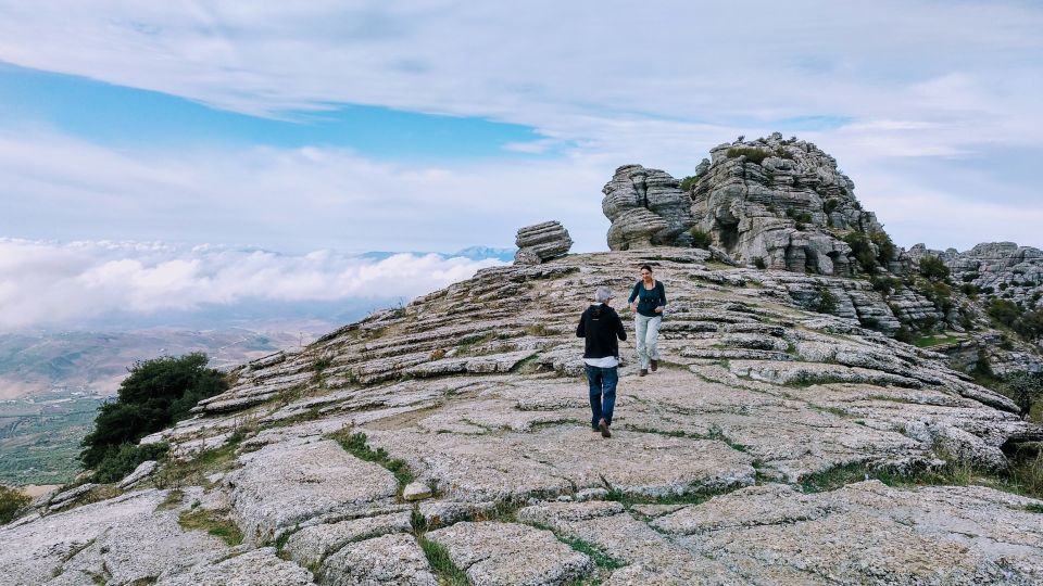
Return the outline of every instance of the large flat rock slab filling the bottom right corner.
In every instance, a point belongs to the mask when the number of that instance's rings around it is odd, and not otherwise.
[[[983,487],[902,491],[869,481],[803,495],[757,486],[652,522],[757,575],[789,568],[847,584],[1040,584],[1040,501]],[[757,570],[762,568],[762,570]]]

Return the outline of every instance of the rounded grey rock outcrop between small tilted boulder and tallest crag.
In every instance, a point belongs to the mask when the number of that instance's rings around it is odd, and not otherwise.
[[[602,189],[601,208],[612,221],[608,249],[688,246],[694,224],[691,201],[666,171],[624,165]]]

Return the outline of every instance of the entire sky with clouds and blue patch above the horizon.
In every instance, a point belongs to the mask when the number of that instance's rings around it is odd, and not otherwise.
[[[864,4],[0,0],[0,331],[605,250],[616,167],[772,131],[900,245],[1043,247],[1043,3]]]

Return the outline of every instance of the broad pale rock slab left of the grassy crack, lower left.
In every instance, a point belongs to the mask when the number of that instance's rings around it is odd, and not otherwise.
[[[329,440],[273,444],[239,461],[243,467],[224,482],[233,491],[233,515],[252,543],[322,513],[390,499],[398,489],[391,472]]]

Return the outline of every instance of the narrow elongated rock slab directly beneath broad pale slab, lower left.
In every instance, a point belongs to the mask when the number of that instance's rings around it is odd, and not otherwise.
[[[410,528],[409,512],[312,525],[291,535],[282,551],[301,565],[318,565],[327,556],[352,542],[407,532]]]

